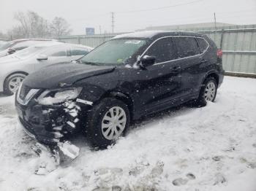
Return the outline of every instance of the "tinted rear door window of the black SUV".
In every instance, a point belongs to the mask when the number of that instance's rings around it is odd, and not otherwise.
[[[178,53],[178,58],[185,58],[200,53],[197,41],[193,37],[173,38]]]

